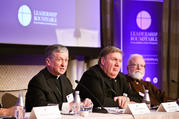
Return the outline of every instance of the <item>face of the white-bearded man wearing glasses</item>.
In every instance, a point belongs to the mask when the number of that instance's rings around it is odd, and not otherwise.
[[[134,56],[128,66],[128,74],[134,79],[142,80],[145,75],[145,61],[140,56]]]

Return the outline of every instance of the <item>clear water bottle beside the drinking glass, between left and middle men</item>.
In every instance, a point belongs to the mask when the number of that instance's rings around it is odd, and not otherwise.
[[[79,91],[75,91],[75,100],[73,103],[73,112],[75,115],[80,114],[81,99],[79,93],[80,93]]]

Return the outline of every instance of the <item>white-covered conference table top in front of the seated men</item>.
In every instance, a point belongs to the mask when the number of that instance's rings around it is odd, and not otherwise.
[[[25,118],[28,119],[28,116]],[[119,114],[119,113],[89,113],[86,116],[64,115],[59,119],[179,119],[179,112],[156,112],[151,110],[147,114]]]

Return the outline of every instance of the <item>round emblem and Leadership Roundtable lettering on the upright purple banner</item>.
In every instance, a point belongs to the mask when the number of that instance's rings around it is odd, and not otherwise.
[[[152,18],[148,11],[142,10],[138,12],[136,24],[141,30],[130,32],[130,44],[158,44],[158,32],[148,30],[152,26]]]

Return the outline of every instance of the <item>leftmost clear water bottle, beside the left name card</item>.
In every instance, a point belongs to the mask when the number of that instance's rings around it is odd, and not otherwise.
[[[15,118],[16,119],[23,119],[25,114],[25,108],[24,108],[24,101],[23,101],[23,94],[19,93],[16,106],[22,107],[22,110],[15,110]]]

